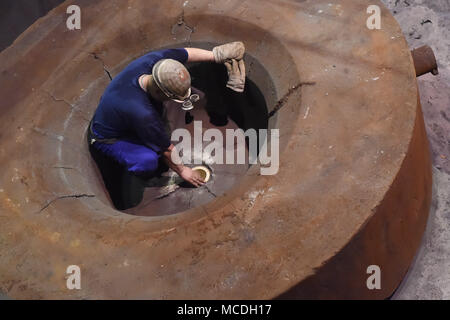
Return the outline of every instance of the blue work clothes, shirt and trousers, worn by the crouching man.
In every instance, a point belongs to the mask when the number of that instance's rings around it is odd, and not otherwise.
[[[185,49],[150,52],[130,63],[106,88],[93,118],[93,132],[100,139],[118,139],[113,144],[95,142],[95,149],[136,175],[151,176],[159,158],[170,146],[162,119],[163,106],[149,98],[138,79],[151,74],[161,59],[186,63]]]

